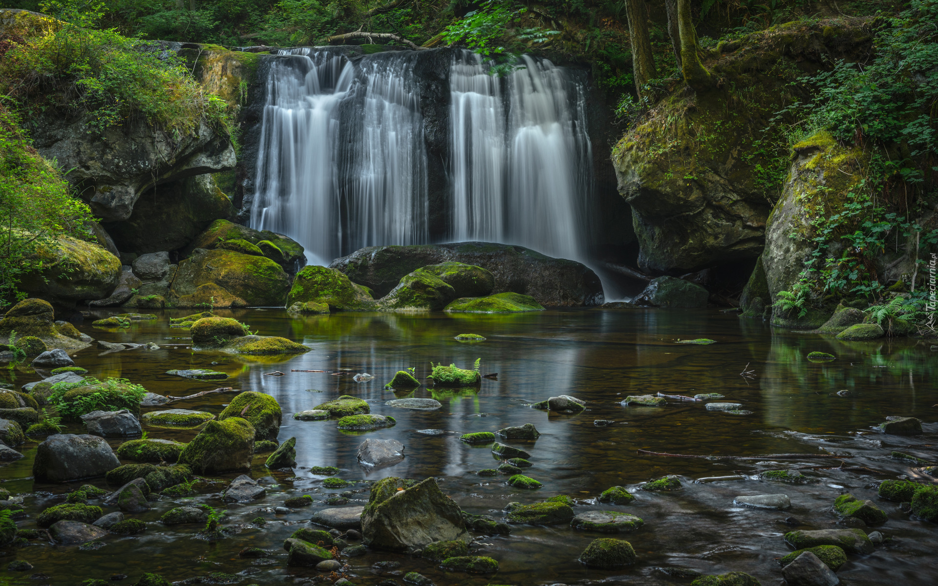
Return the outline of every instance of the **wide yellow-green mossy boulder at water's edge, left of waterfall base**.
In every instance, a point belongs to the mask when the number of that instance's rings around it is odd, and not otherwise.
[[[290,276],[280,264],[266,257],[222,248],[196,248],[179,263],[170,296],[178,301],[208,283],[251,306],[282,306],[290,292]]]

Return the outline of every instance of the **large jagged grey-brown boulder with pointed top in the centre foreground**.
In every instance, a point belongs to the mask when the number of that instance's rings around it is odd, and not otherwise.
[[[382,479],[371,488],[361,516],[366,546],[406,551],[434,541],[471,541],[459,505],[440,490],[434,478],[399,488],[404,484],[396,477]]]

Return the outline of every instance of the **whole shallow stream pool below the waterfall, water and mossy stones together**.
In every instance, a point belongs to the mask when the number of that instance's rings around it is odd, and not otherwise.
[[[61,435],[0,426],[0,507],[22,511],[0,528],[11,536],[0,563],[23,583],[933,574],[938,392],[922,340],[772,331],[717,310],[215,309],[306,347],[247,355],[200,345],[205,327],[172,327],[183,310],[92,325],[118,311],[77,324],[95,340],[85,348],[0,375],[21,391],[70,358],[70,377],[149,393],[117,413],[66,417]],[[485,339],[454,339],[467,333]],[[678,343],[702,339],[713,342]],[[23,410],[39,419],[45,408],[42,425],[54,423],[51,405],[36,407],[3,414],[26,430]],[[782,559],[801,548],[812,549]],[[733,572],[751,578],[702,578]]]

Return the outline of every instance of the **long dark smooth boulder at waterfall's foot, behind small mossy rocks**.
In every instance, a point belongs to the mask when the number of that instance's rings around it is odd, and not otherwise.
[[[361,248],[329,266],[384,296],[405,275],[446,262],[484,268],[494,278],[492,293],[531,295],[543,306],[594,306],[604,299],[602,283],[583,264],[490,242]]]

